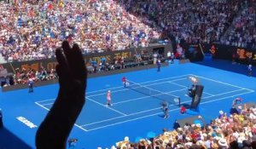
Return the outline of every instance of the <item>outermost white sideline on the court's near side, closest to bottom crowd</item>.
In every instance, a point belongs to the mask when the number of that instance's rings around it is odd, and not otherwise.
[[[239,94],[239,95],[245,95],[245,94],[249,94],[249,93],[253,93],[253,92],[254,92],[254,91],[249,91],[249,92],[242,93],[242,94]],[[209,100],[209,101],[201,102],[201,105],[204,105],[204,104],[207,104],[207,103],[211,103],[211,102],[214,102],[214,101],[217,101],[217,100],[224,100],[224,99],[227,99],[227,98],[230,98],[230,97],[233,97],[233,96],[236,96],[236,95],[227,96],[227,97],[220,98],[220,99],[216,99],[216,100]],[[189,101],[189,102],[190,102],[190,101]],[[172,109],[172,110],[170,110],[169,112],[177,111],[177,110],[179,110],[179,109],[180,109],[180,108]],[[109,126],[117,125],[117,124],[120,124],[120,123],[131,122],[131,121],[134,121],[134,120],[137,120],[137,119],[142,119],[142,118],[144,118],[144,117],[152,117],[152,116],[155,116],[155,115],[159,115],[159,114],[161,114],[161,113],[163,113],[163,112],[158,112],[158,113],[150,114],[150,115],[143,116],[143,117],[137,117],[137,118],[129,119],[129,120],[122,121],[122,122],[119,122],[119,123],[112,123],[112,124],[104,125],[104,126],[102,126],[102,127],[97,127],[97,128],[95,128],[95,129],[88,129],[88,131],[92,131],[92,130],[96,130],[96,129],[102,129],[102,128],[107,128],[107,127],[109,127]]]

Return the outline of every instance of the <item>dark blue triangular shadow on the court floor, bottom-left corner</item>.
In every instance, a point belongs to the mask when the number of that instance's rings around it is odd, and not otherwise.
[[[31,149],[24,141],[20,140],[16,135],[8,129],[0,129],[0,148],[1,149]]]

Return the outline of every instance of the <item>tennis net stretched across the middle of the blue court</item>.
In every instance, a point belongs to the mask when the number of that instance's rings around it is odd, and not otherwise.
[[[125,80],[125,88],[127,89],[132,89],[143,95],[154,97],[155,99],[161,100],[163,102],[168,102],[169,104],[173,104],[173,105],[180,104],[180,100],[178,96],[161,92],[160,90],[157,90],[157,89],[151,89],[151,88],[148,88],[148,86],[149,85],[143,85],[140,83],[134,83],[130,80]]]

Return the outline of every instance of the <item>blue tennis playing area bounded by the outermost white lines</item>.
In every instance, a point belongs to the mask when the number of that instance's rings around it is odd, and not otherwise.
[[[174,100],[175,97],[181,97],[182,104],[189,104],[191,100],[190,97],[186,95],[186,91],[188,86],[191,85],[188,78],[190,76],[195,75],[188,74],[177,77],[166,77],[163,79],[140,83],[148,89],[153,89],[154,91],[157,90],[160,93],[159,95],[144,95],[136,90],[125,89],[123,87],[112,88],[112,96],[114,99],[113,106],[106,106],[105,99],[108,89],[88,92],[86,99],[87,104],[90,104],[90,106],[88,106],[87,109],[84,109],[80,114],[76,126],[84,131],[91,131],[137,120],[143,117],[162,114],[160,106],[161,100],[159,100],[160,98],[158,98],[158,96],[163,96],[161,99],[164,99],[165,97],[170,98],[166,100]],[[229,83],[215,81],[207,77],[196,77],[200,78],[202,84],[205,84],[207,87],[211,87],[207,88],[206,91],[203,92],[202,100],[204,101],[202,103],[214,101],[216,98],[223,99],[253,92],[252,89],[241,88]],[[219,90],[213,88],[218,88]],[[39,100],[35,103],[38,106],[49,110],[54,101],[55,99]],[[144,106],[145,104],[147,104],[147,106]],[[177,104],[170,106],[172,110],[178,108]],[[92,111],[104,112],[104,115],[89,117],[87,113]]]

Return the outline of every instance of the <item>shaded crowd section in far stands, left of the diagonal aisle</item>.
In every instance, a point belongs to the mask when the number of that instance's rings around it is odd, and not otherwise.
[[[143,16],[145,24],[158,26],[167,37],[175,37],[177,43],[181,40],[186,43],[220,42],[221,37],[232,25],[236,14],[246,4],[253,3],[242,0],[153,0],[151,3],[142,0],[138,2],[122,0],[121,2],[131,13]]]

